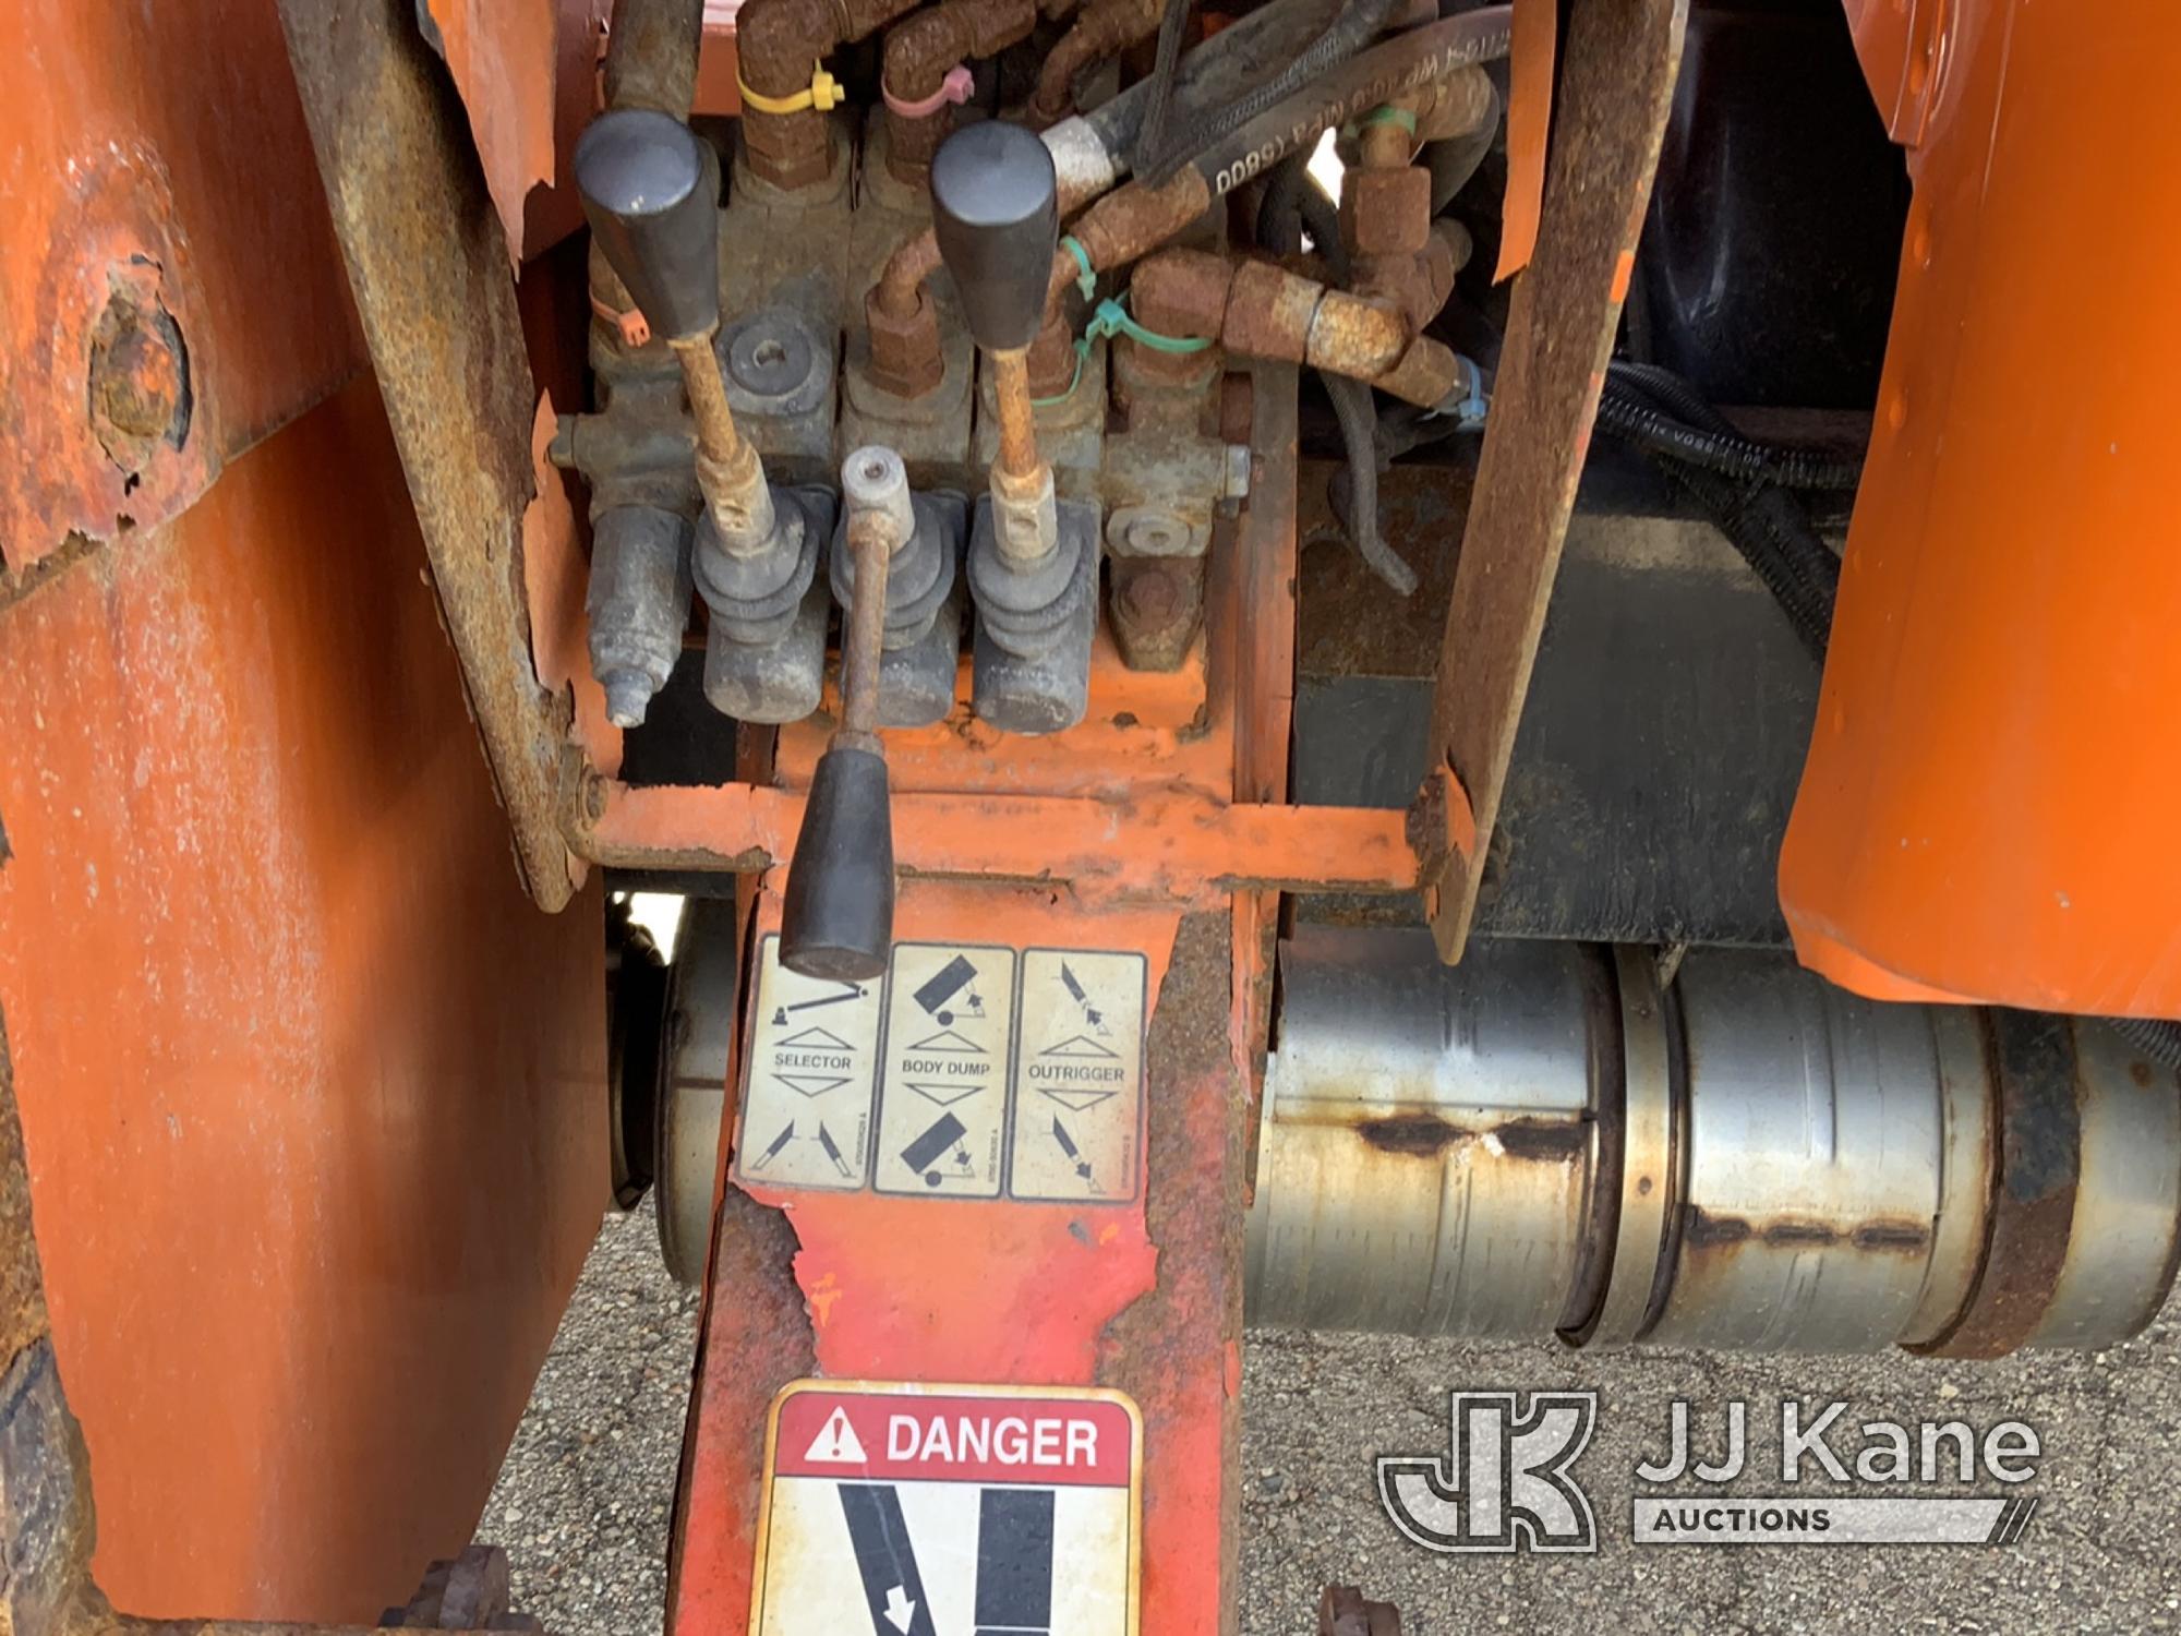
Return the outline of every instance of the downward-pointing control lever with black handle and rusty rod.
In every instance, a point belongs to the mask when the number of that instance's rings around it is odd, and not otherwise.
[[[818,757],[781,905],[781,964],[805,977],[866,982],[894,945],[894,820],[879,742],[879,661],[888,578],[916,534],[901,456],[855,449],[840,467],[853,567],[840,641],[840,724]]]

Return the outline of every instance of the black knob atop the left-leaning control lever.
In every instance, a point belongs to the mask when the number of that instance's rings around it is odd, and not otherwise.
[[[652,109],[600,113],[576,142],[576,190],[606,262],[661,340],[720,325],[720,216],[704,146]]]

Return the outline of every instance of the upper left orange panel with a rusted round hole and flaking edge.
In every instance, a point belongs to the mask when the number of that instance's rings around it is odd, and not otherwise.
[[[72,537],[174,515],[362,364],[264,7],[41,0],[11,22],[0,598],[9,569]],[[116,441],[96,414],[94,349],[146,329],[168,351],[170,395],[185,353],[188,414]]]

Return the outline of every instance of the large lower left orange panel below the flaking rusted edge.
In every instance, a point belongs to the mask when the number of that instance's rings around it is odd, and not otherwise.
[[[0,609],[0,1008],[137,1612],[451,1555],[604,1204],[598,894],[510,879],[423,563],[358,382]]]

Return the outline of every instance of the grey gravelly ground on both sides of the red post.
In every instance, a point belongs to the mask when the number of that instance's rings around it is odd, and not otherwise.
[[[696,1298],[659,1265],[650,1208],[608,1219],[478,1529],[513,1551],[517,1605],[556,1636],[659,1629],[694,1337]],[[1407,1636],[1592,1636],[1607,1621],[1614,1636],[2181,1629],[2177,1339],[2181,1300],[2109,1352],[1974,1368],[1258,1333],[1243,1387],[1243,1629],[1304,1636],[1328,1579],[1398,1603]],[[1450,1387],[1601,1394],[1577,1466],[1599,1512],[1596,1557],[1435,1557],[1396,1536],[1372,1455],[1442,1451]],[[1631,1472],[1664,1451],[1666,1405],[1690,1398],[1701,1416],[1736,1396],[1751,1405],[1751,1466],[1775,1459],[1784,1396],[1847,1398],[1854,1418],[1911,1427],[2026,1420],[2044,1440],[2041,1509],[2007,1551],[1629,1547]],[[1712,1416],[1699,1437],[1716,1437]]]

